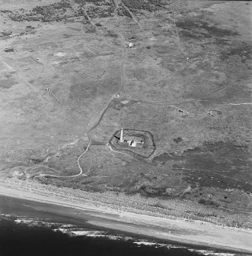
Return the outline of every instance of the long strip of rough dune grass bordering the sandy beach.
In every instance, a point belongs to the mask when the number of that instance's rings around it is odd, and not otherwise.
[[[24,180],[2,179],[1,188],[24,192],[24,198],[27,193],[33,194],[34,199],[40,200],[44,196],[48,197],[48,202],[65,202],[66,205],[71,202],[75,207],[107,207],[107,209],[115,209],[118,212],[133,212],[143,215],[160,216],[168,219],[183,219],[187,221],[201,221],[215,224],[225,225],[236,228],[251,228],[251,216],[247,212],[232,211],[230,209],[216,208],[204,204],[196,204],[191,200],[181,199],[161,199],[156,197],[141,196],[139,194],[129,195],[126,193],[116,193],[104,191],[88,192],[81,191],[78,188],[71,190],[64,188],[59,184],[57,186],[49,184],[39,184],[37,182],[27,182]],[[31,196],[31,198],[33,198]],[[242,196],[242,195],[241,195]],[[46,198],[45,197],[45,198]],[[63,201],[62,201],[63,200]],[[72,205],[73,206],[73,205]],[[202,223],[203,224],[203,223]]]

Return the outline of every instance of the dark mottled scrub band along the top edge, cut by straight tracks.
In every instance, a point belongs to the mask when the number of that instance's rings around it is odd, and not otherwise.
[[[86,3],[88,2],[88,5]],[[124,0],[124,4],[131,8],[132,10],[145,10],[153,11],[161,8],[162,5],[158,3],[158,0],[148,0],[144,1],[135,1],[135,0]],[[9,13],[9,18],[13,21],[60,21],[66,18],[74,18],[77,16],[84,16],[88,20],[90,18],[107,18],[113,16],[115,10],[115,5],[113,1],[105,0],[75,0],[75,3],[78,4],[77,8],[72,8],[69,0],[62,0],[51,5],[38,5],[30,11],[25,11],[24,9],[16,11],[14,13]],[[130,6],[130,7],[129,7]],[[66,15],[65,12],[68,11]],[[132,18],[129,11],[126,10],[123,5],[120,5],[117,8],[118,15],[128,16]]]

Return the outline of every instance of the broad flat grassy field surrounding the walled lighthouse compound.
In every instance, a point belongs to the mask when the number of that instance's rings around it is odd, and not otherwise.
[[[0,179],[251,228],[250,2],[0,3]],[[154,153],[110,147],[121,128]]]

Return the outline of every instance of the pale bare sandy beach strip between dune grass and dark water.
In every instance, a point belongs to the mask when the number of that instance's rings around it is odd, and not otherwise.
[[[60,196],[14,189],[2,184],[0,184],[0,194],[80,209],[85,216],[88,215],[90,224],[100,227],[193,245],[207,245],[212,248],[252,253],[252,232],[248,230],[125,212],[107,206],[94,205],[91,202],[84,204],[76,199],[63,199]]]

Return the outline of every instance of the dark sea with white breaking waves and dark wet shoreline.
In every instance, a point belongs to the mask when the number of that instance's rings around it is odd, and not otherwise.
[[[90,225],[85,212],[0,196],[0,255],[238,255]]]

